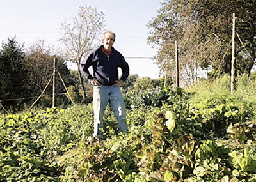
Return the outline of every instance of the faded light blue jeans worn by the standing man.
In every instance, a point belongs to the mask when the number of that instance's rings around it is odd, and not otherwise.
[[[118,124],[118,133],[127,132],[127,120],[124,97],[118,86],[94,86],[93,87],[93,110],[94,110],[94,137],[102,136],[103,114],[110,104],[114,111]]]

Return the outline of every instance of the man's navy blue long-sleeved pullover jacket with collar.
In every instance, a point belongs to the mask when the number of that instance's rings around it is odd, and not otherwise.
[[[102,46],[93,50],[86,59],[81,61],[80,70],[81,73],[87,79],[100,79],[106,84],[111,84],[118,80],[118,68],[122,70],[121,80],[125,81],[129,75],[129,66],[125,61],[124,56],[120,52],[112,47],[110,56],[102,51]],[[92,66],[93,76],[89,72],[88,68]]]

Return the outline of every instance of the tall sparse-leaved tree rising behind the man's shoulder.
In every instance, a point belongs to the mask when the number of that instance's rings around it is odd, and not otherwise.
[[[76,17],[71,21],[65,20],[61,24],[62,37],[60,41],[66,47],[68,61],[79,65],[84,56],[95,49],[100,41],[100,35],[104,28],[104,14],[98,13],[96,7],[81,6]],[[86,98],[86,91],[83,84],[83,76],[79,72],[79,84],[82,90],[83,100]]]

